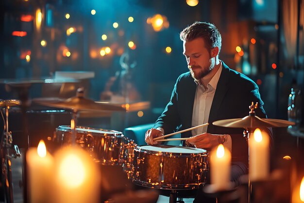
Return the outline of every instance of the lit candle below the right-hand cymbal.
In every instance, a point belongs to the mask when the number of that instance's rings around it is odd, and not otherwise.
[[[269,136],[255,129],[249,138],[249,179],[265,180],[269,176]]]

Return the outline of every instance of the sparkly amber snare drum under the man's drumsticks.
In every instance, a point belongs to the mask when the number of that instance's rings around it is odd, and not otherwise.
[[[196,189],[206,183],[208,169],[208,153],[204,149],[137,146],[132,180],[136,185],[158,189]]]

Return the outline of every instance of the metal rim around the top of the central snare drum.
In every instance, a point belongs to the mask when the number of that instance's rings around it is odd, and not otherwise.
[[[197,156],[197,155],[208,155],[208,151],[206,149],[201,149],[201,148],[190,148],[190,149],[197,149],[197,150],[203,150],[202,152],[200,153],[178,153],[178,152],[164,152],[164,151],[152,151],[152,150],[142,150],[140,149],[140,147],[142,146],[149,146],[149,145],[137,145],[135,148],[134,148],[134,151],[138,151],[138,152],[143,152],[144,153],[148,153],[148,154],[163,154],[164,156],[172,156],[172,155],[175,155],[175,156],[188,156],[188,155],[191,155],[191,156]],[[168,145],[156,145],[156,146],[168,146]],[[181,146],[172,146],[172,147],[179,147],[179,148],[188,148],[188,147],[181,147]]]

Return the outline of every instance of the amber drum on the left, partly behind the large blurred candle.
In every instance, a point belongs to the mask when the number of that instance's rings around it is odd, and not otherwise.
[[[122,165],[127,139],[121,132],[108,129],[76,128],[76,145],[89,152],[93,161],[103,165]],[[69,126],[56,128],[54,141],[62,145],[72,144],[72,130]]]

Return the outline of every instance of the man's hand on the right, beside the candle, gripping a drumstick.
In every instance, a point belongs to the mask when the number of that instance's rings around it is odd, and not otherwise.
[[[203,133],[200,135],[193,136],[186,140],[186,143],[194,145],[196,148],[215,148],[219,145],[219,136],[216,134]]]

